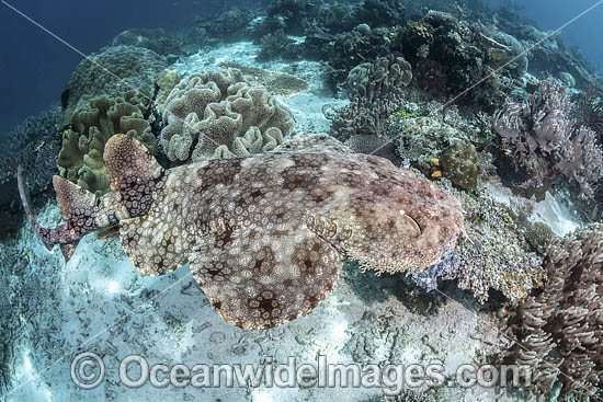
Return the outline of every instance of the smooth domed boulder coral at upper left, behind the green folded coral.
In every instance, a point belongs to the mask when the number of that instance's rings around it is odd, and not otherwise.
[[[61,94],[61,125],[94,96],[115,96],[138,90],[152,96],[156,77],[168,68],[163,57],[144,47],[118,45],[102,48],[83,59]]]

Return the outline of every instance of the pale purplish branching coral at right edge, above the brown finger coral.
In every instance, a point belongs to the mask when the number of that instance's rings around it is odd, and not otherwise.
[[[581,196],[589,197],[603,177],[596,134],[576,126],[566,89],[556,81],[542,81],[523,105],[508,102],[494,114],[492,128],[513,149],[516,165],[527,170],[526,187],[542,186],[561,173],[580,186]]]

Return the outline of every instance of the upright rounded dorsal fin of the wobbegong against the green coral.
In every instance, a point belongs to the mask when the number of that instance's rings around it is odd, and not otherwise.
[[[163,169],[150,151],[134,137],[116,134],[109,139],[103,162],[111,189],[128,188],[133,184],[148,183],[159,177]]]

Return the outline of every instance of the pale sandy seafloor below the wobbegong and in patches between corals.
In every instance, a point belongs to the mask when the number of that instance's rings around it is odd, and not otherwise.
[[[239,43],[209,54],[181,58],[172,68],[181,73],[217,68],[223,61],[260,66],[286,72],[291,65],[254,62],[255,46]],[[310,90],[281,96],[294,113],[296,131],[328,131],[325,104],[343,101],[322,88],[319,64],[299,61],[298,77]],[[302,72],[302,74],[299,73]],[[510,192],[489,185],[497,199],[508,202]],[[557,208],[557,210],[554,210]],[[535,209],[558,234],[574,223],[560,217],[551,199]],[[56,203],[35,211],[45,227],[58,225]],[[561,214],[562,215],[562,214]],[[120,382],[124,357],[144,356],[149,365],[254,364],[266,356],[274,365],[295,356],[297,364],[316,365],[325,355],[329,364],[429,364],[441,361],[446,374],[462,364],[479,360],[505,341],[491,318],[479,312],[467,292],[452,297],[435,312],[413,313],[400,290],[399,276],[377,277],[345,264],[334,290],[315,310],[280,328],[243,331],[226,323],[183,266],[163,277],[147,277],[124,254],[117,238],[86,237],[65,264],[60,251],[48,252],[25,222],[19,231],[19,250],[29,261],[19,276],[22,336],[14,344],[14,389],[7,401],[380,401],[379,388],[201,388],[163,389],[145,384],[130,389]],[[5,267],[8,268],[8,267]],[[14,267],[13,267],[14,268]],[[14,296],[13,296],[14,297]],[[456,299],[456,300],[453,300]],[[103,356],[105,379],[92,390],[78,388],[70,377],[76,351]],[[136,372],[132,374],[133,377]],[[424,394],[425,401],[523,400],[521,393],[500,389],[444,387]],[[400,398],[405,401],[406,399]]]

